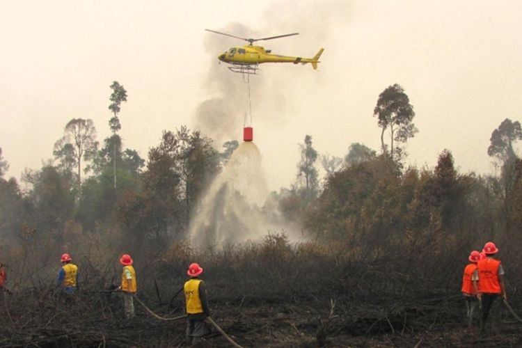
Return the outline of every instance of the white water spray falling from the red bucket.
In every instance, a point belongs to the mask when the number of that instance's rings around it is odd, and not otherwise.
[[[275,227],[262,212],[268,193],[258,147],[245,141],[200,200],[190,226],[192,243],[222,246],[262,237]]]

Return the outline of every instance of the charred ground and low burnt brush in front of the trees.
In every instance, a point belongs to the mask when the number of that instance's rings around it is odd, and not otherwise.
[[[490,335],[464,324],[460,270],[426,277],[393,262],[353,260],[342,248],[290,246],[284,238],[196,255],[136,261],[138,297],[162,317],[183,314],[180,290],[189,260],[205,268],[212,317],[243,347],[519,347],[522,324],[507,311]],[[113,263],[113,261],[111,261]],[[13,288],[1,306],[2,347],[183,347],[184,320],[165,322],[139,303],[125,321],[118,294],[118,268],[100,260],[78,260],[84,281],[71,299],[52,280],[32,274],[33,285]],[[115,273],[116,272],[116,273]],[[509,278],[509,277],[508,277]],[[519,295],[508,283],[509,301],[520,312]],[[216,331],[213,347],[230,344]]]

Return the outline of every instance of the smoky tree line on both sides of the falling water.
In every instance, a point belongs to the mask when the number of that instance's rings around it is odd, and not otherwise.
[[[110,88],[111,136],[101,144],[92,120],[72,118],[53,158],[39,170],[26,170],[22,183],[5,177],[8,161],[0,148],[3,244],[31,238],[64,246],[88,234],[133,252],[187,237],[198,198],[237,141],[218,150],[198,130],[180,126],[165,130],[145,161],[136,150],[124,150],[118,132],[127,91],[116,81]],[[271,204],[309,239],[345,246],[363,262],[393,258],[402,270],[422,264],[416,268],[421,276],[441,264],[454,266],[486,239],[520,259],[512,243],[522,228],[518,121],[505,119],[493,129],[487,155],[500,175],[490,176],[459,173],[450,150],[441,152],[434,168],[404,165],[404,144],[418,129],[402,86],[379,95],[373,116],[381,127],[379,151],[351,143],[343,158],[319,154],[306,135],[295,181],[272,193]]]

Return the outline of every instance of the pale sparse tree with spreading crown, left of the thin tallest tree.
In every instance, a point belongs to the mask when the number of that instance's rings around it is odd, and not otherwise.
[[[65,135],[54,143],[54,156],[66,170],[77,167],[78,188],[81,188],[81,160],[90,159],[97,150],[96,128],[93,120],[73,118],[65,125]]]

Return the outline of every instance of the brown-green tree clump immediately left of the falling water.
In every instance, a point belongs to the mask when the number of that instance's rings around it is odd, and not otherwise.
[[[182,237],[194,203],[218,170],[219,154],[209,139],[187,127],[164,131],[149,150],[143,191],[127,196],[118,210],[125,230],[158,246]]]

